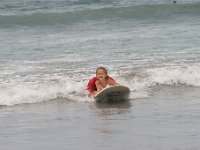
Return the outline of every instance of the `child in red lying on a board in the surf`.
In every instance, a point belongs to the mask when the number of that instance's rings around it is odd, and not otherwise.
[[[96,77],[93,77],[87,85],[87,90],[90,92],[89,96],[95,96],[99,91],[107,86],[118,85],[118,83],[108,76],[107,69],[98,67],[96,69]]]

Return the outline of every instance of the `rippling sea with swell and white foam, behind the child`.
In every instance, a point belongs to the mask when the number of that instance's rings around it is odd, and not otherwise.
[[[1,1],[0,105],[93,101],[105,66],[130,99],[200,86],[198,1]]]

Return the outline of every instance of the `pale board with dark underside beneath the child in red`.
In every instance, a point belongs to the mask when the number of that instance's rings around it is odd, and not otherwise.
[[[106,87],[94,97],[96,102],[112,102],[128,100],[130,89],[123,85]]]

